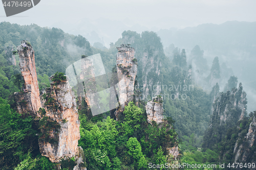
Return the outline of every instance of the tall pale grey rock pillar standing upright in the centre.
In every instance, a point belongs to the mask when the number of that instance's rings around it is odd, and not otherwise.
[[[121,105],[120,111],[123,111],[124,106],[134,99],[137,59],[134,58],[134,48],[129,45],[121,44],[120,47],[117,47],[117,50],[116,62],[119,80],[119,102]]]

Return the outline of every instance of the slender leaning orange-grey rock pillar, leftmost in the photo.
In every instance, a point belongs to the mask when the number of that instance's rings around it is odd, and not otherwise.
[[[19,67],[22,71],[25,84],[23,92],[15,93],[17,109],[20,114],[30,113],[39,116],[37,111],[41,108],[39,88],[35,68],[35,52],[28,41],[22,41],[17,47],[19,54]]]

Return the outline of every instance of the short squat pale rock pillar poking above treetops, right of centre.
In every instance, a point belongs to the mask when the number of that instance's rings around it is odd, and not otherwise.
[[[152,124],[154,120],[157,124],[163,122],[163,99],[161,96],[156,96],[152,101],[147,101],[146,115],[147,122]]]

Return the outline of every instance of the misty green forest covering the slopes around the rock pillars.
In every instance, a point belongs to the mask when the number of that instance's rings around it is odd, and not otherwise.
[[[66,68],[80,60],[81,55],[99,53],[106,72],[111,72],[116,67],[116,47],[130,44],[135,48],[138,64],[136,84],[139,85],[135,88],[135,96],[138,96],[138,104],[135,100],[127,104],[119,120],[112,117],[111,111],[93,116],[84,101],[78,110],[78,145],[83,149],[87,169],[152,169],[150,163],[201,165],[200,168],[184,166],[172,169],[234,169],[231,165],[227,167],[236,159],[234,146],[237,143],[238,146],[244,144],[243,150],[248,148],[249,141],[245,137],[250,124],[255,121],[256,112],[247,113],[246,107],[244,110],[240,108],[241,105],[246,106],[247,101],[242,100],[246,93],[242,83],[237,87],[236,75],[226,82],[225,91],[219,91],[218,83],[210,87],[210,92],[203,90],[193,71],[191,74],[194,68],[187,61],[186,51],[176,47],[170,54],[172,57],[166,56],[161,39],[155,32],[138,34],[124,31],[117,42],[102,50],[93,47],[86,37],[71,35],[61,29],[1,22],[0,167],[3,170],[56,168],[56,164],[41,156],[39,151],[38,140],[44,136],[40,129],[46,123],[43,120],[38,123],[28,113],[21,115],[16,111],[14,93],[22,91],[24,80],[19,69],[19,56],[15,52],[22,40],[29,41],[35,51],[40,91],[50,87],[52,81],[66,80]],[[199,69],[211,72],[204,78],[205,81],[210,82],[212,77],[221,79],[218,57],[210,69],[203,64],[198,45],[192,54],[197,64],[202,64]],[[10,62],[12,55],[15,56],[16,65]],[[55,75],[55,79],[51,81],[49,78],[52,75]],[[143,84],[159,84],[162,88],[159,94],[154,89],[146,92]],[[142,94],[146,94],[145,98],[141,97]],[[165,122],[161,125],[147,123],[145,104],[156,95],[163,97]],[[244,116],[241,119],[242,112]],[[226,122],[221,115],[227,116]],[[179,156],[175,160],[167,149],[176,145]],[[242,162],[253,163],[255,152],[254,144],[248,148],[249,156]],[[225,168],[220,167],[223,163]],[[204,164],[217,166],[203,167]],[[74,158],[63,160],[61,169],[73,169],[74,165]]]

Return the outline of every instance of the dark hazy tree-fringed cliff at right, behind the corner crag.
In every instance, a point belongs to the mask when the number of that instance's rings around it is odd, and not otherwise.
[[[213,88],[212,95],[216,96],[219,87]],[[212,105],[212,116],[209,129],[204,136],[203,147],[211,148],[220,142],[226,135],[226,131],[237,124],[246,112],[246,92],[243,91],[242,84],[239,88],[233,88],[226,93],[222,92],[216,96]]]

